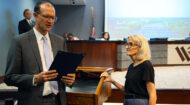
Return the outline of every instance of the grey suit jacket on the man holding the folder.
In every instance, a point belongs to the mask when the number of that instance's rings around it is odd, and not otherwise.
[[[50,34],[55,57],[57,51],[65,51],[62,37]],[[42,62],[34,31],[31,30],[13,39],[5,71],[5,83],[18,87],[18,105],[41,105],[44,83],[33,86],[34,74],[42,72]],[[66,105],[65,84],[58,82],[61,105]]]

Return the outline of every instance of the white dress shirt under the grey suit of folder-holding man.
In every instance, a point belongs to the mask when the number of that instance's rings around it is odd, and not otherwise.
[[[41,62],[42,62],[42,68],[43,68],[43,71],[48,71],[49,68],[46,68],[46,62],[45,62],[45,56],[44,56],[44,49],[43,49],[43,40],[42,40],[42,37],[43,35],[38,32],[35,28],[33,28],[34,30],[34,34],[36,36],[36,39],[37,39],[37,44],[38,44],[38,49],[39,49],[39,52],[40,52],[40,57],[41,57]],[[51,41],[50,41],[50,38],[49,38],[49,34],[47,33],[45,35],[45,37],[47,38],[47,42],[48,42],[48,45],[49,45],[49,48],[50,48],[50,54],[51,54],[51,58],[52,58],[52,61],[53,61],[53,51],[52,51],[52,47],[51,47]],[[33,81],[34,83],[34,81]],[[46,96],[48,94],[51,94],[51,88],[50,88],[50,82],[49,81],[46,81],[44,83],[44,90],[43,90],[43,96]]]

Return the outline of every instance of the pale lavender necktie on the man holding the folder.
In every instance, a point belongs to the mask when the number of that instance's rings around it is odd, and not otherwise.
[[[49,69],[52,59],[51,59],[51,54],[50,54],[50,48],[48,46],[47,38],[45,36],[42,37],[42,40],[44,42],[44,58],[46,62],[46,68]],[[56,94],[58,93],[58,84],[57,81],[50,81],[50,88],[52,93]]]

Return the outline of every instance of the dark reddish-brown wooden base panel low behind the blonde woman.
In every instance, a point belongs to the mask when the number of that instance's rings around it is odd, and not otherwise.
[[[113,89],[107,102],[123,102],[124,92]],[[190,104],[190,89],[157,89],[158,104]]]

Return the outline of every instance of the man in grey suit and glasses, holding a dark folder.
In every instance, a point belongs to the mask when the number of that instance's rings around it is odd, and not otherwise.
[[[49,61],[57,51],[66,50],[63,38],[48,33],[56,19],[55,9],[42,1],[36,4],[33,16],[34,28],[13,39],[4,81],[18,87],[18,105],[66,105],[65,84],[71,86],[75,75],[49,81],[58,75],[56,70],[48,71]]]

